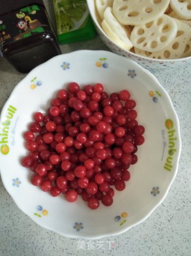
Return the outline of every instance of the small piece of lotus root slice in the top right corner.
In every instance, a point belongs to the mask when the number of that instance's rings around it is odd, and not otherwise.
[[[171,0],[170,5],[181,19],[191,20],[191,0]]]

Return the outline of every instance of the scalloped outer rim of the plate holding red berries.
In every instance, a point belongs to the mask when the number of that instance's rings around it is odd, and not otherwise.
[[[82,236],[79,236],[78,234],[76,234],[76,236],[74,234],[63,234],[61,233],[60,231],[55,231],[54,228],[51,228],[51,227],[47,227],[46,224],[44,224],[44,222],[38,222],[36,221],[35,218],[32,218],[32,215],[30,216],[26,210],[24,210],[22,207],[19,206],[19,203],[18,203],[18,200],[16,197],[13,196],[13,193],[10,191],[10,189],[8,188],[7,184],[4,182],[4,178],[2,177],[2,171],[1,171],[1,168],[0,168],[0,176],[1,176],[1,180],[2,180],[2,183],[6,189],[6,191],[8,192],[8,194],[10,194],[12,200],[14,201],[14,203],[16,204],[16,206],[21,210],[21,212],[25,213],[30,219],[32,219],[32,221],[34,221],[36,224],[40,225],[41,227],[47,229],[47,230],[51,230],[53,231],[54,233],[58,233],[60,234],[61,236],[65,236],[65,237],[70,237],[70,238],[78,238],[78,239],[89,239],[89,240],[94,240],[94,239],[101,239],[103,237],[109,237],[109,236],[115,236],[115,235],[119,235],[119,234],[122,234],[122,233],[125,233],[126,231],[130,230],[130,228],[132,227],[135,227],[136,225],[140,224],[141,222],[145,221],[151,214],[152,212],[162,203],[162,201],[165,200],[165,198],[167,197],[167,194],[168,194],[168,191],[170,190],[171,188],[171,185],[172,183],[174,182],[174,179],[177,175],[177,171],[178,171],[178,162],[179,162],[179,159],[180,159],[180,155],[181,155],[181,134],[180,134],[180,122],[179,122],[179,119],[178,119],[178,115],[177,113],[175,112],[175,109],[174,109],[174,106],[172,104],[172,101],[171,101],[171,98],[170,98],[170,95],[168,95],[168,92],[165,90],[165,88],[161,85],[161,83],[159,83],[158,79],[156,79],[156,77],[150,73],[150,71],[146,70],[146,68],[143,68],[141,67],[140,64],[137,64],[137,62],[133,61],[132,59],[127,59],[125,58],[124,56],[120,56],[120,55],[116,55],[116,53],[113,53],[113,52],[109,52],[109,51],[106,51],[106,50],[76,50],[74,52],[70,52],[70,53],[64,53],[64,54],[61,54],[61,55],[58,55],[58,56],[54,56],[53,58],[49,59],[47,62],[44,62],[43,64],[41,65],[38,65],[37,67],[33,68],[32,71],[30,71],[26,77],[24,77],[23,79],[20,80],[19,83],[17,83],[17,85],[15,86],[15,88],[13,89],[13,91],[11,92],[10,96],[8,97],[7,101],[5,102],[4,104],[4,107],[2,107],[2,110],[1,110],[1,115],[0,116],[3,116],[2,114],[7,110],[7,104],[8,102],[10,101],[10,98],[14,95],[14,92],[17,90],[17,88],[19,88],[19,86],[21,86],[21,84],[23,82],[25,82],[25,80],[27,79],[27,77],[30,76],[31,73],[33,73],[33,71],[35,70],[38,70],[39,68],[42,68],[43,66],[46,66],[46,65],[49,65],[50,62],[53,60],[53,59],[57,59],[57,58],[60,58],[60,56],[69,56],[69,55],[75,55],[76,53],[82,53],[82,56],[83,56],[83,53],[87,53],[87,55],[90,55],[92,52],[100,52],[100,53],[107,53],[108,55],[113,55],[113,56],[116,56],[116,58],[122,58],[122,59],[125,59],[125,61],[127,62],[131,62],[133,63],[135,66],[137,66],[138,68],[140,68],[141,71],[143,71],[144,73],[147,73],[147,75],[149,75],[150,77],[152,77],[153,80],[155,80],[155,82],[158,84],[158,86],[160,87],[161,91],[166,95],[166,97],[168,98],[168,102],[170,104],[170,107],[171,107],[171,111],[173,112],[173,115],[174,115],[174,118],[175,118],[175,122],[177,122],[177,141],[178,141],[178,144],[177,144],[177,161],[175,162],[175,165],[174,165],[174,173],[171,177],[171,182],[168,183],[168,186],[167,188],[165,188],[165,192],[164,194],[162,195],[162,198],[161,200],[158,200],[158,202],[155,204],[155,207],[152,207],[151,210],[149,210],[149,212],[144,215],[143,218],[140,218],[139,221],[136,221],[134,224],[131,224],[129,227],[126,227],[126,228],[123,228],[119,231],[104,231],[104,233],[98,235],[93,235],[93,236],[90,236],[90,234],[88,235],[82,235]],[[1,119],[0,119],[1,120]]]

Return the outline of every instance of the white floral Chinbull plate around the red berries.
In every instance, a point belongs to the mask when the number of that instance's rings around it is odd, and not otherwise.
[[[23,132],[34,112],[45,112],[51,98],[69,82],[103,83],[107,92],[128,89],[137,102],[145,143],[124,191],[115,191],[112,206],[91,210],[81,197],[68,203],[30,183],[32,171],[20,164],[26,155]],[[36,67],[16,86],[2,109],[1,178],[17,206],[44,228],[67,237],[97,239],[121,234],[144,221],[164,200],[174,180],[181,140],[177,115],[167,92],[140,65],[105,51],[82,50],[56,56]]]

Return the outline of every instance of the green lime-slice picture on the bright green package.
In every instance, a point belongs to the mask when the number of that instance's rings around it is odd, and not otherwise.
[[[86,0],[53,0],[57,34],[84,28],[88,20]]]

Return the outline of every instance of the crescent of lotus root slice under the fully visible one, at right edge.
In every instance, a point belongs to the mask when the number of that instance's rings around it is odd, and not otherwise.
[[[175,39],[159,52],[147,52],[135,47],[135,53],[153,59],[179,59],[189,53],[191,28],[186,23],[175,20],[178,31]]]

